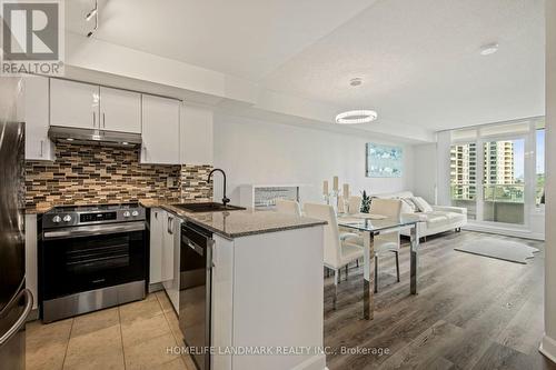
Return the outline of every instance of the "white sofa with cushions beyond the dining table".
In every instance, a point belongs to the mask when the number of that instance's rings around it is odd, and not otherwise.
[[[400,191],[388,194],[375,194],[376,198],[401,199],[415,197],[410,191]],[[373,204],[373,203],[371,203]],[[459,231],[467,224],[467,208],[431,206],[431,212],[413,212],[405,210],[405,213],[413,213],[421,221],[418,223],[419,238],[426,238],[436,233],[455,230]],[[373,206],[371,206],[373,209]],[[409,236],[409,230],[401,231],[401,234]]]

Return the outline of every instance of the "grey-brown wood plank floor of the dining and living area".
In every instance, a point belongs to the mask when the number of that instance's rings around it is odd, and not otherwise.
[[[484,237],[429,238],[419,253],[419,294],[409,294],[409,249],[380,260],[375,319],[363,320],[363,268],[342,274],[337,310],[325,280],[325,346],[335,369],[556,369],[538,352],[543,336],[544,243],[527,264],[454,251]],[[515,240],[497,237],[503,240]],[[375,349],[371,354],[346,352]]]

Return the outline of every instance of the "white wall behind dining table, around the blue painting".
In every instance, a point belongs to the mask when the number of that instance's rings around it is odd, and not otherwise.
[[[413,188],[413,147],[405,147],[404,177],[365,177],[365,143],[371,138],[340,134],[318,129],[269,123],[247,118],[215,114],[215,167],[228,174],[228,196],[239,199],[239,184],[306,183],[302,201],[320,201],[322,180],[332,176],[351,186],[351,193],[393,192]],[[390,143],[390,142],[385,142]],[[396,144],[396,143],[394,143]],[[215,186],[215,198],[221,198]]]

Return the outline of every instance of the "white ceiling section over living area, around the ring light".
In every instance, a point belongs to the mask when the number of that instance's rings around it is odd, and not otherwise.
[[[265,84],[439,130],[544,114],[544,49],[540,0],[383,0]]]

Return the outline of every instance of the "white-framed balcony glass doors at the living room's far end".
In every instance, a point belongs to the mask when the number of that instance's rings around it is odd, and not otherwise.
[[[544,184],[538,180],[544,176],[537,173],[535,156],[543,122],[540,118],[451,131],[451,206],[467,208],[474,223],[530,228],[529,216],[539,208],[538,199],[544,200],[543,186],[537,186]]]

